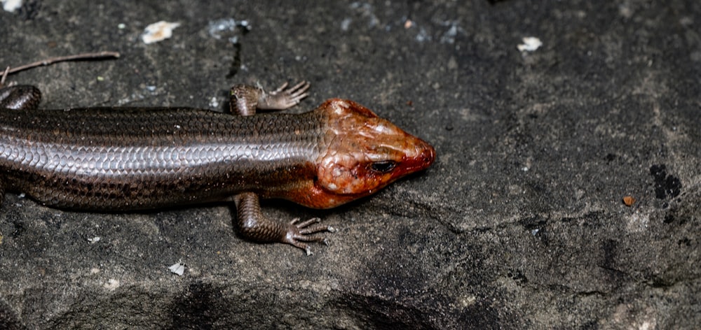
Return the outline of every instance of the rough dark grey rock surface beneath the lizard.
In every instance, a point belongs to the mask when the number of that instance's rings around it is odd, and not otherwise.
[[[71,213],[7,194],[1,329],[701,324],[699,1],[95,2],[0,12],[2,66],[121,52],[9,77],[46,108],[222,110],[235,83],[306,79],[292,111],[353,99],[438,159],[341,208],[266,202],[340,229],[311,257],[243,241],[226,205]],[[145,45],[159,20],[181,25]]]

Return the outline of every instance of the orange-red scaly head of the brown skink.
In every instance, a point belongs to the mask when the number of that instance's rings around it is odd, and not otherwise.
[[[404,175],[428,168],[435,150],[358,103],[330,99],[318,110],[329,116],[314,182],[318,208],[373,194]]]

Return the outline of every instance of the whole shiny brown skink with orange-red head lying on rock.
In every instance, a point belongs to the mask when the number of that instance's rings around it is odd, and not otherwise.
[[[332,208],[376,192],[435,159],[431,145],[353,101],[282,110],[309,85],[273,92],[236,85],[231,113],[196,108],[39,110],[39,89],[0,89],[0,202],[21,192],[55,208],[125,211],[233,202],[240,234],[309,253],[318,219],[281,223],[259,198]]]

